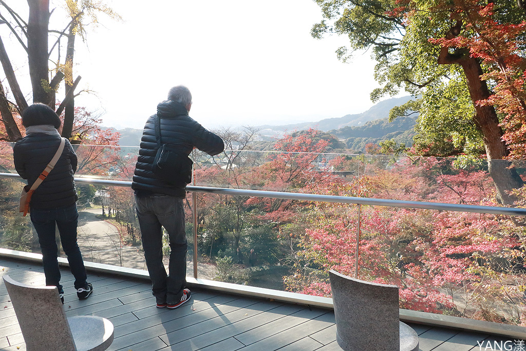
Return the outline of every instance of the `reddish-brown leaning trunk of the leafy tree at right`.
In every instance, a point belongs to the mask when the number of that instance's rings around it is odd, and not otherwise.
[[[461,22],[451,28],[446,38],[456,37],[460,33]],[[478,59],[469,55],[465,49],[458,49],[456,53],[449,53],[448,47],[440,49],[438,63],[442,65],[461,65],[468,81],[469,94],[475,107],[473,122],[482,134],[484,148],[488,159],[488,169],[493,183],[497,189],[499,202],[506,206],[512,206],[514,198],[508,194],[512,189],[520,188],[524,183],[517,174],[513,164],[503,158],[508,155],[508,148],[502,140],[502,128],[499,126],[499,118],[493,106],[480,106],[478,101],[490,97],[488,84],[483,81],[482,68]]]

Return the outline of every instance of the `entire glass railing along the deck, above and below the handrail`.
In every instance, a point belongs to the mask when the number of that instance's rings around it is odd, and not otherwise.
[[[137,147],[75,147],[80,178],[131,180]],[[10,148],[3,149],[2,166],[13,171]],[[466,164],[433,157],[228,152],[194,155],[197,185],[501,206],[493,177],[513,176],[490,174],[485,160]],[[524,164],[512,165],[524,178]],[[492,161],[498,171],[509,166],[508,161]],[[0,178],[5,199],[0,247],[38,252],[31,222],[17,212],[21,185]],[[85,259],[145,269],[131,189],[77,182],[77,190]],[[520,192],[512,195],[518,205],[524,203]],[[355,274],[357,205],[207,193],[197,193],[197,201],[199,278],[329,296],[329,269]],[[192,203],[187,196],[188,276],[193,276]],[[522,323],[522,219],[366,205],[360,213],[358,277],[398,285],[401,307]],[[166,239],[163,252],[167,265]]]

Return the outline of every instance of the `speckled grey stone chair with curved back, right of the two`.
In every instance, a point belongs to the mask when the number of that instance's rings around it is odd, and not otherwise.
[[[418,351],[418,335],[400,322],[398,286],[329,271],[336,339],[345,351]]]

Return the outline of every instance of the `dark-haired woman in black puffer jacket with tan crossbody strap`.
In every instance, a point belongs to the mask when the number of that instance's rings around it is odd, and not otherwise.
[[[34,104],[22,114],[26,136],[15,147],[16,172],[32,185],[44,171],[60,145],[60,118],[47,105]],[[86,298],[93,291],[86,282],[86,269],[77,245],[77,191],[73,174],[77,169],[77,155],[67,141],[64,151],[47,178],[36,188],[31,198],[31,222],[38,234],[42,249],[42,263],[46,285],[56,286],[64,303],[64,290],[60,285],[60,270],[57,261],[55,225],[60,242],[67,255],[69,268],[75,276],[78,298]]]

